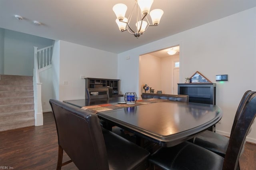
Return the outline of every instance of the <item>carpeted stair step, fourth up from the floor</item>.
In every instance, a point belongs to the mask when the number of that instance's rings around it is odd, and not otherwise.
[[[21,103],[33,103],[34,97],[6,97],[0,98],[0,105],[14,105]]]

